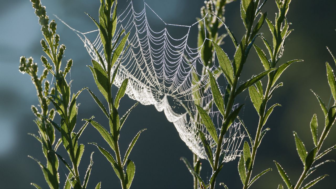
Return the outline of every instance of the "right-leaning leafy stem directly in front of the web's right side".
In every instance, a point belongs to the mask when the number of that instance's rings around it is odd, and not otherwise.
[[[225,145],[223,143],[224,135],[226,131],[228,130],[228,128],[231,126],[231,124],[237,119],[240,110],[244,106],[244,104],[240,105],[238,108],[233,110],[235,98],[241,92],[243,92],[244,90],[246,90],[253,84],[259,83],[260,79],[262,79],[264,76],[276,70],[276,68],[269,67],[269,69],[266,69],[266,71],[263,71],[260,74],[253,76],[251,79],[244,82],[243,84],[238,85],[239,78],[243,70],[243,65],[245,64],[247,60],[247,56],[249,54],[249,51],[256,37],[261,35],[261,34],[258,34],[258,32],[261,29],[262,25],[264,24],[264,21],[266,18],[266,13],[261,14],[256,25],[255,26],[253,25],[265,1],[261,3],[261,5],[259,5],[259,3],[260,3],[259,0],[242,0],[241,1],[241,15],[242,15],[242,19],[243,19],[246,32],[244,36],[242,37],[242,40],[239,43],[237,42],[232,32],[228,29],[228,27],[225,26],[229,36],[231,37],[236,47],[233,64],[231,64],[228,56],[220,48],[220,46],[213,42],[216,55],[217,55],[217,59],[219,62],[219,66],[226,80],[228,81],[228,85],[226,87],[226,92],[225,92],[226,94],[224,95],[224,98],[223,98],[214,75],[211,73],[211,71],[209,71],[210,86],[211,86],[211,91],[213,95],[213,100],[220,114],[223,116],[223,123],[220,128],[219,136],[217,135],[214,124],[211,118],[209,117],[209,115],[207,114],[207,112],[202,107],[196,105],[198,112],[200,113],[200,116],[203,120],[203,123],[205,124],[206,129],[208,130],[209,134],[211,135],[211,137],[216,143],[216,148],[215,148],[216,150],[215,150],[215,153],[213,153],[210,148],[210,145],[205,139],[204,134],[202,132],[199,132],[199,137],[202,140],[203,146],[208,156],[208,161],[213,170],[212,176],[210,177],[210,180],[209,180],[209,184],[210,184],[209,188],[214,188],[216,177],[218,173],[221,171],[221,168],[223,167],[223,164],[224,164],[223,162],[223,158],[225,155],[225,153],[223,153],[223,147]],[[199,178],[201,188],[206,188],[207,186],[202,181],[200,176],[197,173],[194,173],[194,174]],[[245,176],[246,176],[246,172],[245,172]],[[245,179],[244,180],[242,179],[242,181],[244,183]]]

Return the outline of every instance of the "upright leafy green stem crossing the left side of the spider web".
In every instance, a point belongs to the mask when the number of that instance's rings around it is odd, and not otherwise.
[[[95,49],[95,53],[98,57],[99,63],[95,60],[92,60],[92,66],[88,67],[90,68],[93,74],[95,83],[97,84],[99,91],[102,93],[102,95],[107,101],[109,109],[106,110],[102,102],[94,95],[94,93],[89,88],[86,89],[89,91],[94,101],[98,104],[100,109],[109,119],[110,133],[96,121],[90,119],[85,120],[90,122],[92,126],[98,130],[100,135],[104,138],[104,140],[106,140],[106,142],[110,145],[111,149],[115,152],[115,157],[113,157],[107,150],[100,147],[97,143],[89,143],[89,144],[97,146],[99,151],[110,161],[116,175],[120,179],[121,187],[129,188],[134,178],[135,165],[133,161],[128,159],[128,156],[133,146],[135,145],[135,142],[139,138],[140,133],[145,129],[142,129],[138,132],[138,134],[134,137],[131,144],[129,145],[124,158],[121,159],[121,153],[118,144],[120,129],[123,126],[129,113],[138,103],[135,103],[134,106],[132,106],[125,113],[125,115],[120,118],[118,113],[119,102],[120,99],[125,95],[128,79],[125,79],[122,82],[114,99],[112,97],[111,88],[112,84],[115,81],[118,68],[120,66],[120,60],[122,58],[122,57],[120,58],[120,55],[122,54],[125,48],[125,44],[127,42],[129,33],[125,34],[124,37],[119,42],[119,38],[124,33],[124,30],[122,30],[118,34],[116,41],[114,43],[112,42],[117,27],[117,1],[106,0],[105,2],[103,2],[103,0],[100,0],[100,3],[101,4],[99,8],[99,23],[96,22],[93,17],[91,17],[90,15],[89,16],[98,27],[100,39],[103,45],[104,59],[101,57],[97,49]],[[114,10],[112,9],[113,4],[114,4]],[[124,172],[125,166],[126,166],[126,174]]]

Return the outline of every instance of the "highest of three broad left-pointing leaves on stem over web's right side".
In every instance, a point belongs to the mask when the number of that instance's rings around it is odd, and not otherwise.
[[[222,69],[226,80],[230,83],[230,85],[232,85],[234,76],[230,59],[219,45],[214,42],[212,42],[212,44],[215,46],[219,66]]]

